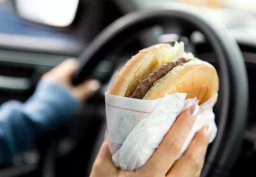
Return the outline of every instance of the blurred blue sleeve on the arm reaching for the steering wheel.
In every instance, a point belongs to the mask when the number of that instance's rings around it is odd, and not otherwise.
[[[78,110],[64,86],[40,81],[27,102],[9,101],[0,107],[0,164],[22,150],[32,148],[42,133],[68,121]]]

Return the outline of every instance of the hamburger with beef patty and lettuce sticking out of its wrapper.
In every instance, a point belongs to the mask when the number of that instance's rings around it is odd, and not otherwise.
[[[183,43],[157,44],[142,49],[127,61],[109,94],[154,100],[172,93],[187,93],[199,105],[218,92],[216,69],[184,51]]]

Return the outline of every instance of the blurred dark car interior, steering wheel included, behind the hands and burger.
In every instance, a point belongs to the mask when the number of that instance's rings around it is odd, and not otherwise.
[[[0,176],[89,176],[106,133],[104,93],[140,49],[182,41],[216,67],[217,137],[202,176],[255,176],[256,3],[171,0],[0,0],[0,102],[25,102],[42,75],[79,60],[73,84],[101,88],[70,122],[0,167]]]

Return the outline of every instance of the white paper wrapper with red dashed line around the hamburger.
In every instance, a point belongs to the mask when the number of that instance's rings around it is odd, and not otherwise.
[[[173,122],[186,108],[196,104],[194,123],[178,158],[187,149],[194,134],[208,125],[209,143],[217,133],[213,106],[217,94],[198,106],[196,98],[186,98],[186,93],[173,93],[156,100],[139,100],[105,93],[107,137],[116,166],[132,171],[144,165],[161,143]]]

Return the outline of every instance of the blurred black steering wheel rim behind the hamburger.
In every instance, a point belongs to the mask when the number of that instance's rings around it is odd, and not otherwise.
[[[104,56],[120,43],[120,39],[154,25],[172,23],[185,32],[189,29],[203,33],[217,55],[220,81],[216,117],[218,133],[208,150],[202,176],[228,176],[238,158],[245,129],[248,81],[237,43],[218,24],[183,7],[127,14],[105,28],[86,48],[73,83],[79,84],[90,76]]]

